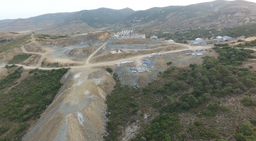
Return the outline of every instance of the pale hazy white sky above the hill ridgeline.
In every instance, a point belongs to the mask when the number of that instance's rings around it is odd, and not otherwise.
[[[189,5],[213,0],[3,0],[0,20],[29,18],[47,13],[75,12],[106,7],[111,9],[145,10],[152,7]],[[247,0],[256,2],[256,0]]]

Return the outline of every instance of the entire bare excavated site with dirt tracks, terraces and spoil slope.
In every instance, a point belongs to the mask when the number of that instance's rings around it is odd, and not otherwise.
[[[30,123],[24,141],[101,141],[107,134],[105,100],[115,86],[113,73],[121,85],[144,87],[170,67],[168,62],[173,67],[187,67],[190,63],[202,64],[202,56],[217,56],[211,52],[213,45],[193,47],[145,39],[135,33],[115,38],[114,33],[92,32],[46,41],[37,41],[36,34],[31,34],[28,40],[0,54],[0,78],[8,74],[4,67],[18,54],[31,54],[16,64],[24,69],[70,69],[61,79],[63,86],[52,104]],[[198,51],[203,55],[195,55]],[[108,67],[112,73],[106,71]]]

